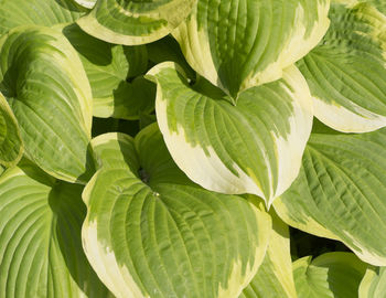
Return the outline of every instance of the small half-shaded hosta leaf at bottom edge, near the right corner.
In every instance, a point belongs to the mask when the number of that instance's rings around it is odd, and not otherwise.
[[[299,298],[355,298],[366,264],[351,253],[328,253],[311,260],[293,263],[293,277]]]

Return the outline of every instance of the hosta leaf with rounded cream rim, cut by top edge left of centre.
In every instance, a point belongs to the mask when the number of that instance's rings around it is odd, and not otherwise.
[[[100,40],[143,44],[168,35],[190,13],[196,0],[98,0],[77,23]]]

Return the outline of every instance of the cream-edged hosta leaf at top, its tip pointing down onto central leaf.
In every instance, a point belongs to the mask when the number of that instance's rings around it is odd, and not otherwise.
[[[279,79],[329,28],[329,0],[199,0],[173,35],[191,66],[237,97]]]

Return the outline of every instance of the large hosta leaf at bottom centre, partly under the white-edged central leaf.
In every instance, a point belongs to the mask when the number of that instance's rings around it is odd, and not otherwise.
[[[156,125],[94,146],[103,162],[83,194],[83,243],[116,297],[237,297],[262,262],[269,216],[187,182]]]

